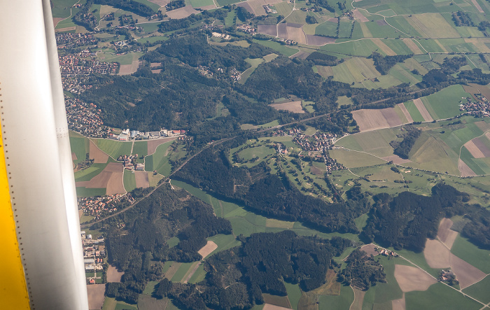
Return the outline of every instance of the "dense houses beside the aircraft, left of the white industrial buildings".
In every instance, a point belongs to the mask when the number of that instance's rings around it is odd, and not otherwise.
[[[101,110],[96,104],[87,104],[79,99],[65,96],[64,105],[69,129],[94,138],[107,136],[110,129],[104,126],[100,117]]]

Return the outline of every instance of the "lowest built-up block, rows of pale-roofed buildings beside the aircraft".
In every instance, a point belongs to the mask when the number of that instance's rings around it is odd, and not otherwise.
[[[81,237],[85,272],[90,273],[90,276],[87,277],[87,282],[94,284],[96,283],[96,279],[102,278],[102,271],[106,267],[104,263],[104,258],[106,257],[104,237],[93,239],[92,235],[86,234],[85,231],[81,232]],[[92,272],[94,273],[93,276]],[[97,276],[97,272],[101,272],[101,276]]]

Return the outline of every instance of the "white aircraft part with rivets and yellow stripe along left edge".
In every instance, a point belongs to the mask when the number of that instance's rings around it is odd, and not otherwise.
[[[50,1],[0,3],[1,309],[88,309]]]

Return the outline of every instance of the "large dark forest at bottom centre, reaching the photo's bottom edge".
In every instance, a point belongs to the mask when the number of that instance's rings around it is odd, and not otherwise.
[[[262,293],[285,296],[283,281],[300,283],[304,291],[323,285],[332,258],[351,246],[339,237],[300,237],[287,230],[239,239],[241,246],[206,260],[200,290],[163,279],[153,295],[171,297],[181,309],[248,309],[263,303]]]

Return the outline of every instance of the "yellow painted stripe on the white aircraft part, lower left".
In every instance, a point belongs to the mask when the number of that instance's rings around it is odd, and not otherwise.
[[[0,124],[1,128],[1,124]],[[15,234],[15,219],[0,130],[0,309],[30,309],[24,268]]]

